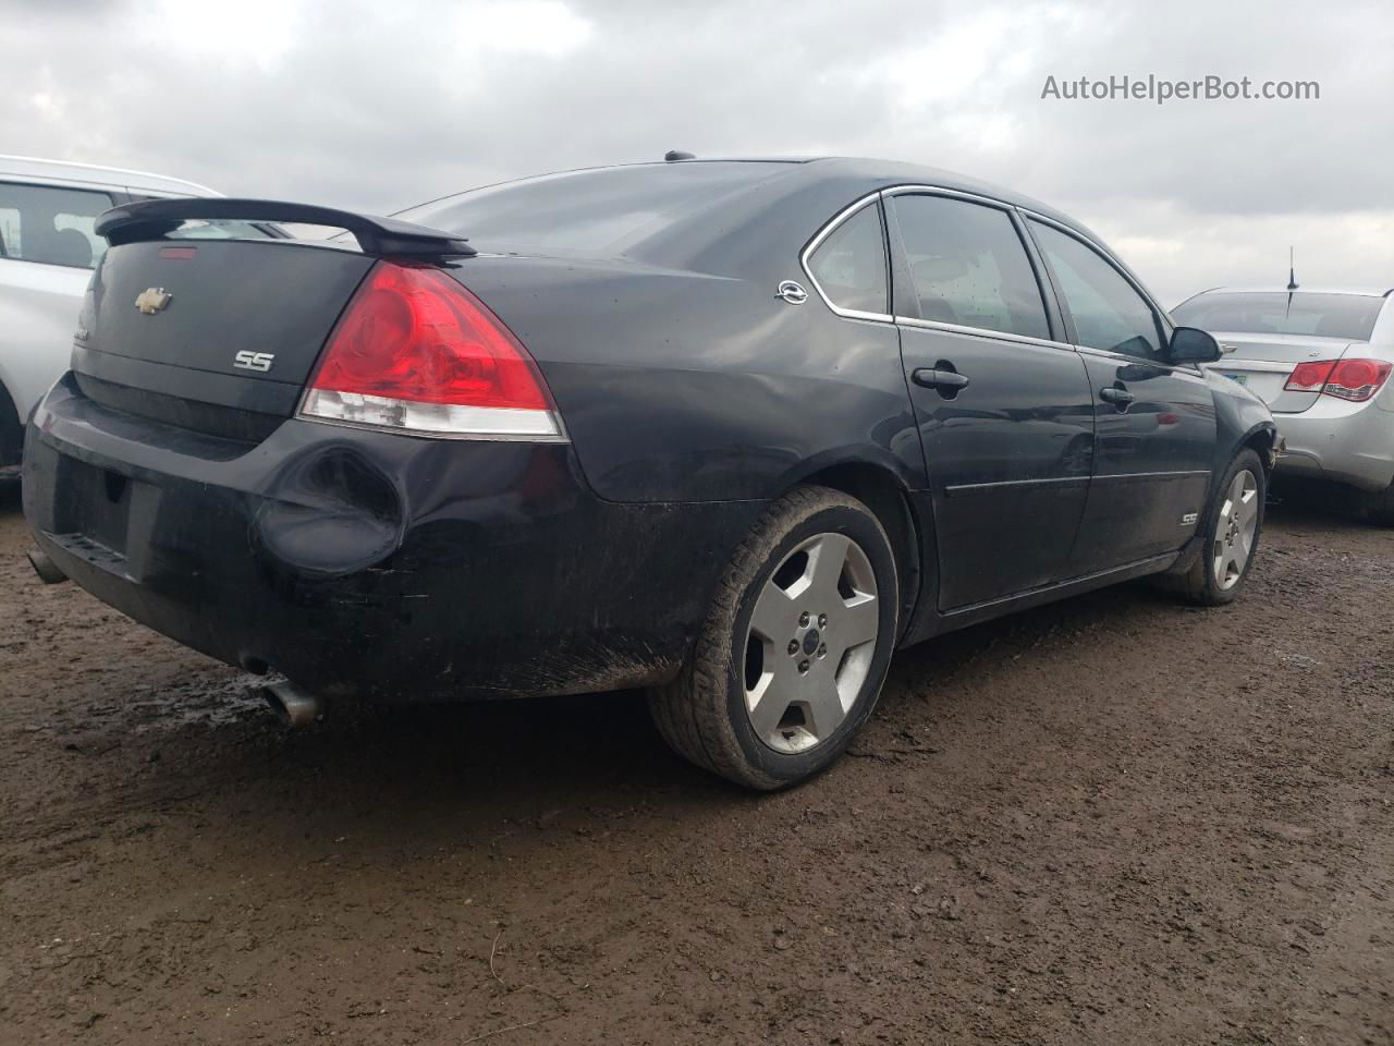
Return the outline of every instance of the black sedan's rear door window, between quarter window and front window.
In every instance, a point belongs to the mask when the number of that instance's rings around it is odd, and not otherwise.
[[[1005,211],[931,195],[894,198],[920,319],[1050,339],[1046,303]]]

